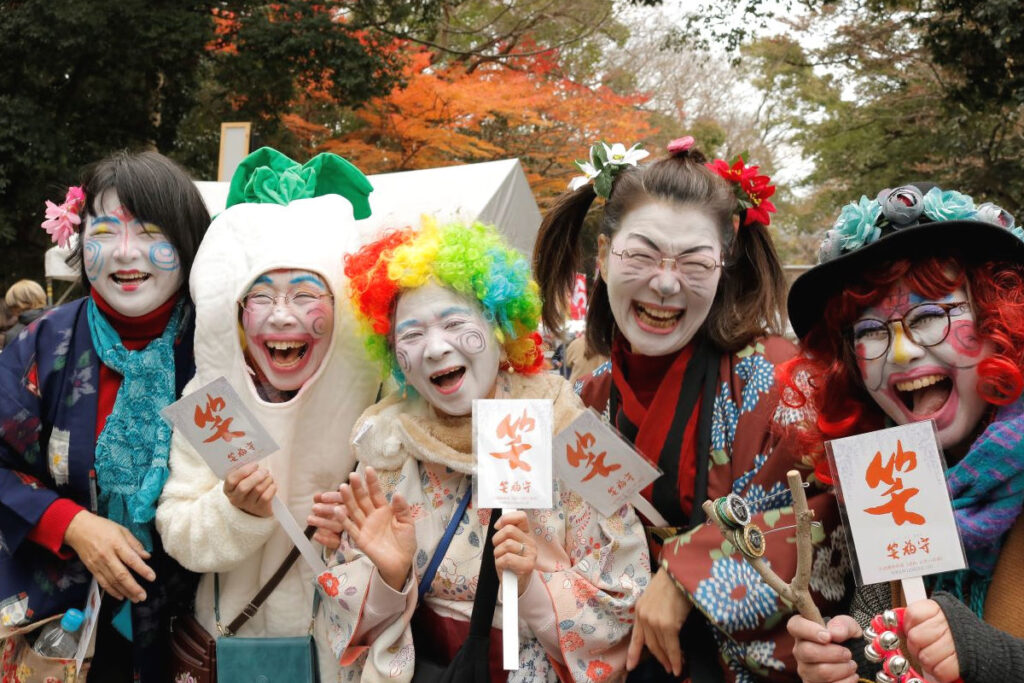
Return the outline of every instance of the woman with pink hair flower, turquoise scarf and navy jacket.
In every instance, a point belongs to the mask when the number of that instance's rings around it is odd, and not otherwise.
[[[209,222],[166,157],[93,164],[43,223],[61,246],[77,236],[88,296],[0,353],[0,637],[83,608],[95,578],[99,681],[162,682],[170,607],[191,598],[153,519],[171,440],[160,410],[195,372],[186,284]],[[23,650],[4,647],[2,671],[22,672]]]

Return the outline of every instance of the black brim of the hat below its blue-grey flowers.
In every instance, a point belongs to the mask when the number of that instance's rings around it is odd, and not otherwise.
[[[931,183],[913,183],[928,191]],[[923,219],[927,219],[922,215]],[[922,222],[902,228],[883,228],[874,242],[820,263],[800,275],[790,288],[790,324],[803,338],[822,319],[828,301],[862,273],[892,261],[952,257],[964,263],[1010,261],[1024,264],[1024,242],[1001,225],[983,220]]]

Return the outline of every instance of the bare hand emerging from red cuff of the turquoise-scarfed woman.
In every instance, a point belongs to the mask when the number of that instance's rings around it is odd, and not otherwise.
[[[75,550],[99,587],[111,596],[132,602],[145,600],[145,591],[131,571],[146,581],[155,580],[157,573],[144,562],[150,553],[124,526],[83,510],[65,530],[65,543]]]

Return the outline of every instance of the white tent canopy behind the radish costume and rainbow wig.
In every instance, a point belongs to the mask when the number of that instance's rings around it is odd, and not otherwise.
[[[361,221],[368,233],[419,225],[420,216],[427,214],[442,221],[493,223],[527,259],[534,252],[541,211],[518,159],[368,177],[374,186],[370,195],[373,213]],[[212,215],[224,209],[228,183],[196,184]]]

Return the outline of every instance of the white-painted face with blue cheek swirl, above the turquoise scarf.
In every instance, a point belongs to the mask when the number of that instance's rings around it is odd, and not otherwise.
[[[89,284],[114,310],[137,317],[164,304],[181,287],[178,250],[160,227],[139,222],[108,189],[94,205],[82,242]]]

